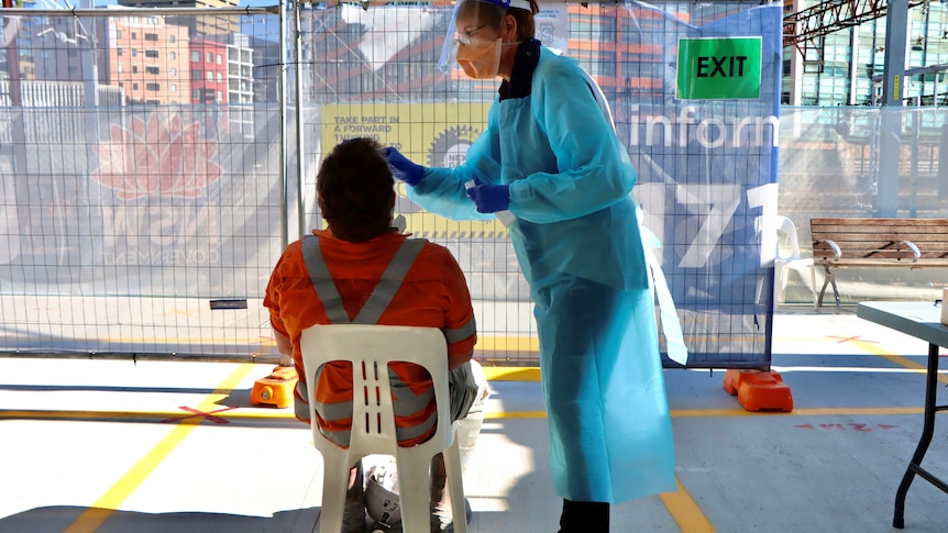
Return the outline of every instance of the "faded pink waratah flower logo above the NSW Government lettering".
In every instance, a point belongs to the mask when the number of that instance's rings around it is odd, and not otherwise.
[[[96,146],[101,165],[92,179],[119,191],[122,200],[161,196],[196,198],[223,174],[211,157],[216,141],[200,138],[198,122],[181,124],[177,113],[147,123],[132,116],[129,130],[112,124],[110,138]]]

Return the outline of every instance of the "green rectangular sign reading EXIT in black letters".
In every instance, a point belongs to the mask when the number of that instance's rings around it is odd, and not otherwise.
[[[761,37],[679,40],[679,100],[760,98]]]

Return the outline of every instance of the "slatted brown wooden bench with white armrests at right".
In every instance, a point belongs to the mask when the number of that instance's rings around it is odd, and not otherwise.
[[[814,268],[822,266],[826,274],[816,308],[823,306],[826,286],[833,285],[839,312],[839,268],[948,267],[946,219],[811,219],[809,227]],[[815,280],[813,288],[815,296]]]

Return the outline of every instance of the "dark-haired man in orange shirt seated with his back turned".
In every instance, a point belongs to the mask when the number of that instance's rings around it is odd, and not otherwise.
[[[280,353],[299,374],[296,417],[307,423],[306,371],[299,351],[301,332],[315,324],[377,323],[439,327],[448,341],[451,408],[458,423],[462,464],[483,421],[487,397],[483,370],[471,357],[477,334],[466,280],[451,253],[392,227],[395,181],[373,140],[353,138],[333,148],[317,176],[317,193],[327,230],[313,230],[290,244],[276,264],[264,306]],[[384,277],[384,280],[383,280]],[[473,363],[473,365],[472,365]],[[411,364],[393,365],[396,432],[410,446],[433,433],[431,378]],[[349,445],[352,423],[352,369],[330,363],[317,370],[317,423],[340,446]],[[340,412],[342,411],[342,412]],[[431,531],[453,531],[444,462],[431,467]],[[343,533],[365,529],[361,463],[350,474]]]

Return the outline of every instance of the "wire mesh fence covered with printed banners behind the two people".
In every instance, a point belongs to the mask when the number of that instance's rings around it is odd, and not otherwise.
[[[541,7],[538,38],[580,60],[610,104],[690,365],[767,367],[772,254],[759,221],[778,211],[778,174],[780,212],[798,227],[828,201],[875,212],[874,184],[891,179],[879,175],[879,110],[780,118],[779,7]],[[322,155],[372,136],[454,166],[496,96],[493,80],[442,68],[453,5],[27,11],[4,16],[0,41],[8,354],[275,358],[261,298],[283,247],[322,225]],[[763,43],[761,97],[680,98],[680,40],[732,36]],[[902,121],[895,156],[912,178],[900,213],[943,208],[941,114]],[[467,275],[478,356],[536,364],[506,227],[434,216],[398,192],[408,231],[448,246]]]

